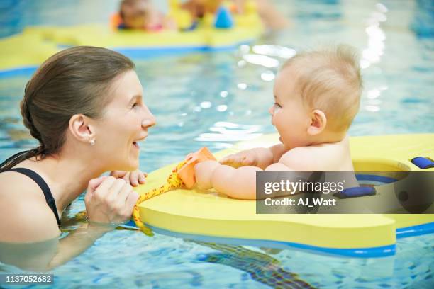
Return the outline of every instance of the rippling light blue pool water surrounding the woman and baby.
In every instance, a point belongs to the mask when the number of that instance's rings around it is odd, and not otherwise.
[[[145,103],[157,118],[140,148],[140,169],[177,162],[199,147],[216,152],[274,132],[267,108],[279,65],[298,50],[339,42],[360,50],[365,79],[350,135],[434,132],[429,1],[275,2],[291,21],[282,33],[229,52],[135,60]],[[117,1],[8,3],[0,12],[4,36],[26,25],[104,22]],[[35,145],[18,109],[29,78],[0,77],[0,159]],[[80,198],[69,214],[83,209]],[[0,264],[0,271],[19,270]],[[52,273],[59,288],[431,288],[433,271],[434,234],[398,239],[395,256],[352,259],[116,230]]]

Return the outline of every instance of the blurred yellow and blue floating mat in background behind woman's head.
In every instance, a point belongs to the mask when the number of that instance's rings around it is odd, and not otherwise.
[[[235,15],[235,27],[218,29],[204,23],[195,30],[111,30],[109,25],[29,26],[0,39],[0,77],[33,72],[62,46],[106,47],[133,58],[183,52],[226,50],[260,37],[264,26],[257,13]]]

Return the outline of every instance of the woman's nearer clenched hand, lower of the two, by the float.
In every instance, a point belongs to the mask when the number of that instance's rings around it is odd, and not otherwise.
[[[138,198],[138,193],[124,179],[114,176],[91,179],[84,197],[87,217],[91,222],[127,222]]]

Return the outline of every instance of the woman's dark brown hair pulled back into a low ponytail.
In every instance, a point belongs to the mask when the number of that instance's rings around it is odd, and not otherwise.
[[[71,117],[101,118],[111,101],[113,79],[134,67],[118,52],[91,46],[68,48],[45,60],[26,84],[21,101],[23,123],[39,146],[9,158],[0,172],[31,157],[60,152]]]

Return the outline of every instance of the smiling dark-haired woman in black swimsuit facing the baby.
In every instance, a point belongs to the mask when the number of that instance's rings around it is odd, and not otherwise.
[[[0,242],[57,242],[62,211],[86,188],[89,220],[60,240],[48,263],[31,268],[64,263],[130,219],[138,199],[131,185],[145,181],[136,170],[138,142],[155,125],[133,69],[117,52],[72,47],[46,60],[28,81],[21,114],[40,146],[0,168]],[[113,172],[100,176],[105,171]],[[77,233],[87,234],[80,245]]]

